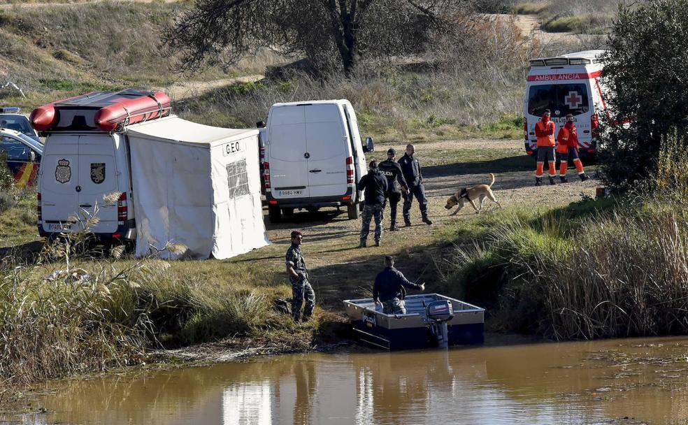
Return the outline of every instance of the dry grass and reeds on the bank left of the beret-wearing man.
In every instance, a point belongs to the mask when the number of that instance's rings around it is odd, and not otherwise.
[[[281,288],[203,280],[160,259],[122,257],[123,247],[94,258],[88,242],[70,236],[32,265],[0,261],[0,393],[142,363],[151,348],[296,328],[272,308]]]

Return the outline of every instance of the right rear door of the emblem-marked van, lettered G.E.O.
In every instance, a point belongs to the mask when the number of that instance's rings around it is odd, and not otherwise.
[[[79,139],[79,210],[98,218],[90,229],[94,233],[117,231],[117,201],[103,197],[117,193],[115,143],[109,135],[80,136]]]

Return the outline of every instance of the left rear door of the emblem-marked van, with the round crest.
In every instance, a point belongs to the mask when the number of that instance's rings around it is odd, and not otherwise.
[[[69,230],[69,219],[78,211],[79,136],[48,137],[41,159],[38,191],[41,193],[43,230]]]

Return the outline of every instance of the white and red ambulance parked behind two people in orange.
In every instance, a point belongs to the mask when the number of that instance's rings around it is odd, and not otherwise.
[[[528,154],[535,157],[538,153],[535,123],[545,109],[552,113],[557,132],[566,122],[566,115],[573,114],[578,128],[580,157],[592,157],[597,152],[599,119],[603,115],[608,116],[605,87],[599,80],[602,74],[599,56],[603,52],[586,50],[530,60],[523,101],[524,138]]]

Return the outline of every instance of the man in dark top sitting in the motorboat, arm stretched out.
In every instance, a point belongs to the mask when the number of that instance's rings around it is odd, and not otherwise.
[[[403,305],[403,288],[425,290],[425,283],[415,284],[406,280],[400,271],[394,268],[394,259],[385,257],[385,270],[378,273],[373,284],[373,300],[375,304],[382,303],[382,312],[386,315],[406,315]]]

